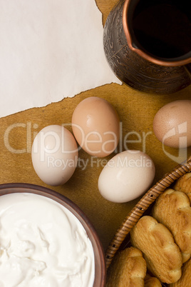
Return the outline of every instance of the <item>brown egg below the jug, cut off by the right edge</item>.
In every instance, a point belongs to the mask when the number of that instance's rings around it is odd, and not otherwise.
[[[162,106],[155,114],[153,131],[165,146],[191,146],[191,101],[177,100]]]

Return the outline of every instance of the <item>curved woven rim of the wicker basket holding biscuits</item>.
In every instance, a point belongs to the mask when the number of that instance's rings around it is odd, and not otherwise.
[[[185,163],[181,163],[176,166],[172,172],[167,173],[160,181],[158,181],[152,188],[149,189],[147,193],[138,201],[135,207],[130,211],[128,216],[125,218],[121,226],[118,228],[118,231],[115,233],[115,236],[108,246],[108,249],[105,252],[105,262],[106,267],[110,266],[110,263],[115,256],[115,253],[118,251],[121,246],[125,248],[125,245],[128,246],[128,236],[131,228],[135,226],[135,223],[138,222],[139,218],[143,216],[145,211],[148,211],[148,208],[155,201],[166,188],[170,187],[178,178],[183,176],[185,173],[191,171],[191,157]],[[126,241],[126,243],[125,243]]]

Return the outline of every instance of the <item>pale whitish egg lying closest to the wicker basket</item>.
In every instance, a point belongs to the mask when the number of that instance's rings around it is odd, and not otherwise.
[[[98,190],[108,201],[132,201],[148,190],[155,177],[153,160],[142,151],[118,153],[105,165],[98,178]]]

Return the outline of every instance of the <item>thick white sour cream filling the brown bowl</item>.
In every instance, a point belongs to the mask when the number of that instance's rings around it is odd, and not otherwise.
[[[33,193],[0,197],[0,287],[90,287],[94,254],[78,218]]]

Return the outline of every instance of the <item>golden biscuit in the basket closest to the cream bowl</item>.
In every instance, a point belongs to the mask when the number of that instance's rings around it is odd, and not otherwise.
[[[110,263],[106,287],[143,287],[146,262],[138,248],[126,248],[116,253]]]

